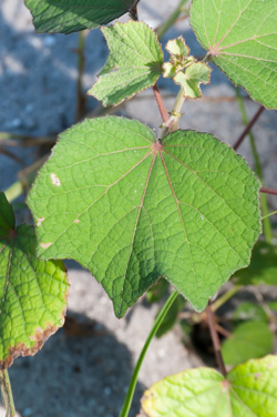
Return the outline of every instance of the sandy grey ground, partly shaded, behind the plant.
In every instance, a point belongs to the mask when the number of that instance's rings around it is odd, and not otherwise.
[[[150,26],[157,27],[166,19],[177,0],[142,0],[138,12]],[[203,50],[197,44],[187,22],[175,26],[163,39],[183,34],[195,55]],[[35,34],[23,0],[0,0],[0,131],[45,135],[59,133],[74,123],[78,35]],[[105,41],[99,30],[86,38],[84,84],[88,90],[96,80],[107,55]],[[176,89],[166,80],[160,81],[166,109],[171,109]],[[213,133],[233,144],[243,130],[243,123],[230,82],[218,70],[213,71],[212,85],[204,88],[204,98],[227,98],[226,101],[187,101],[183,129]],[[247,102],[252,116],[258,104]],[[88,99],[93,110],[96,101]],[[137,118],[157,130],[161,118],[151,90],[126,102],[120,113]],[[277,177],[277,118],[266,111],[255,126],[257,145],[265,167],[267,186],[276,187]],[[239,149],[253,164],[248,141]],[[18,155],[30,164],[35,150],[20,150]],[[6,190],[17,181],[20,165],[0,155],[0,187]],[[270,200],[276,210],[277,200]],[[126,315],[115,318],[112,305],[102,287],[89,272],[69,263],[72,283],[69,314],[85,325],[82,337],[57,333],[33,358],[19,358],[10,369],[17,409],[22,417],[116,417],[132,375],[134,363],[152,326],[158,306],[140,301]],[[199,366],[201,359],[182,343],[178,328],[150,348],[136,390],[131,416],[140,408],[145,389],[162,377],[182,369]],[[4,413],[0,409],[0,416]]]

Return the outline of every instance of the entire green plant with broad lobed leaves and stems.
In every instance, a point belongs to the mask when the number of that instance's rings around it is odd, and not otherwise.
[[[141,413],[275,417],[276,357],[260,358],[260,350],[246,363],[242,358],[233,363],[228,355],[234,345],[224,348],[223,357],[213,315],[218,305],[211,297],[249,265],[261,233],[259,195],[276,192],[265,189],[259,173],[258,179],[232,148],[212,134],[179,130],[178,121],[185,99],[201,98],[201,85],[209,84],[209,63],[263,108],[277,108],[277,3],[193,0],[189,22],[206,55],[197,60],[178,37],[166,44],[167,62],[157,34],[138,21],[137,3],[25,0],[38,32],[93,29],[129,12],[127,23],[101,27],[110,55],[89,94],[114,106],[152,88],[163,124],[155,136],[136,120],[104,116],[61,133],[28,196],[34,230],[16,227],[12,208],[1,194],[0,360],[7,413],[14,416],[7,368],[17,356],[35,354],[63,324],[66,273],[61,261],[51,260],[71,258],[102,284],[119,318],[161,277],[175,288],[141,353],[121,417],[129,415],[147,347],[178,296],[205,315],[219,372],[198,368],[165,378],[145,391]],[[160,77],[179,87],[170,113],[156,85]],[[274,251],[265,235],[267,243],[259,244]],[[260,282],[259,273],[249,268],[236,276],[239,287]],[[270,350],[273,335],[265,326],[260,334],[271,337]],[[224,358],[239,365],[227,373]]]

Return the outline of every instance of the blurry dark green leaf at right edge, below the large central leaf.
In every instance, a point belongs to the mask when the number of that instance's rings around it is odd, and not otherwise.
[[[234,281],[238,285],[277,285],[277,246],[257,242],[250,265],[246,269],[236,272]]]

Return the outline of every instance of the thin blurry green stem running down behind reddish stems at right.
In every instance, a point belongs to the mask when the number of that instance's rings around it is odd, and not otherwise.
[[[237,101],[238,101],[239,110],[240,110],[240,113],[242,113],[243,122],[247,126],[249,124],[249,120],[247,118],[244,101],[243,101],[243,98],[240,95],[238,88],[236,88],[236,94],[237,94]],[[258,179],[259,179],[261,185],[265,185],[264,176],[263,176],[263,169],[261,169],[261,165],[260,165],[259,155],[258,155],[257,146],[256,146],[256,143],[255,143],[255,138],[254,138],[254,134],[252,133],[252,131],[249,131],[248,136],[249,136],[249,141],[250,141],[252,153],[253,153],[253,156],[254,156],[254,160],[255,160],[256,174],[258,175]],[[261,205],[261,213],[264,215],[263,218],[265,218],[265,221],[264,221],[264,234],[265,234],[265,237],[266,237],[266,242],[271,243],[273,231],[271,231],[270,220],[267,216],[269,211],[268,211],[267,197],[266,197],[265,194],[260,195],[260,205]]]

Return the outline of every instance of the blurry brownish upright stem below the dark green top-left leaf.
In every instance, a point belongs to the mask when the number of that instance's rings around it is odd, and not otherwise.
[[[84,39],[85,32],[82,30],[79,33],[79,47],[78,47],[78,81],[76,81],[76,115],[79,121],[83,118],[85,112],[85,94],[83,93],[83,71],[84,71]]]

